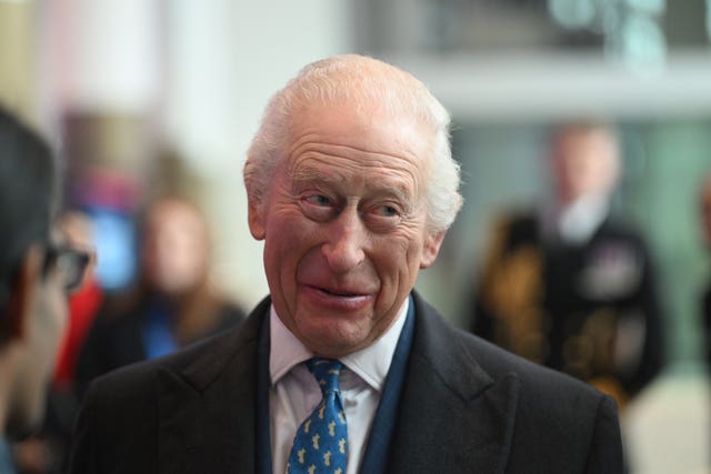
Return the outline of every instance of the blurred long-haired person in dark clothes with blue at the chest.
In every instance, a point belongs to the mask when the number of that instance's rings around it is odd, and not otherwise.
[[[210,284],[210,235],[201,211],[179,196],[148,206],[139,286],[111,297],[96,317],[77,365],[77,385],[120,366],[169,354],[240,323],[244,313]]]

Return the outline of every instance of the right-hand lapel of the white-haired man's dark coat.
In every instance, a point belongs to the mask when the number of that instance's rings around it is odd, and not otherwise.
[[[503,472],[518,379],[492,380],[462,334],[414,296],[414,339],[389,472]]]

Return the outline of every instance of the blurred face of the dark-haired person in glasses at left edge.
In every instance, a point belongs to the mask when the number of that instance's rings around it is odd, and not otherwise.
[[[19,370],[12,384],[8,420],[8,432],[12,435],[22,435],[42,421],[46,392],[68,317],[64,279],[56,265],[42,275],[42,256],[38,250],[31,251],[39,270],[33,273],[28,319],[17,342]]]

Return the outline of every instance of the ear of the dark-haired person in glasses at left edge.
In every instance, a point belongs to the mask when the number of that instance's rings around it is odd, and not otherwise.
[[[42,251],[39,245],[32,245],[20,264],[18,274],[10,288],[8,302],[8,331],[9,339],[24,339],[28,330],[32,306],[34,304],[34,290],[42,278]]]

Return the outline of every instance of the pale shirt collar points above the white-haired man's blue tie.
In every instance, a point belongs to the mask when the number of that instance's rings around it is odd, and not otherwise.
[[[395,321],[380,339],[368,347],[340,359],[343,365],[379,392],[382,390],[390,370],[392,355],[395,352],[409,306],[410,297],[408,296],[398,312]],[[269,317],[271,323],[269,374],[273,385],[296,365],[313,357],[313,353],[284,326],[273,304],[270,307]]]

